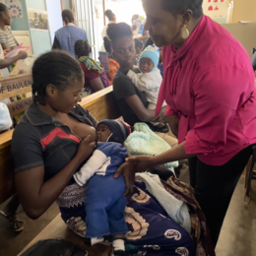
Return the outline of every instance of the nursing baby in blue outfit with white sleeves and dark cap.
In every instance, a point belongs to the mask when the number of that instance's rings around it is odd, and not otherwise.
[[[133,128],[122,121],[103,120],[96,128],[97,146],[93,156],[74,174],[83,186],[90,179],[86,199],[86,224],[89,245],[103,241],[102,236],[113,236],[114,255],[125,256],[124,234],[128,231],[124,210],[127,198],[123,176],[114,178],[118,167],[125,161],[128,150],[124,141]]]

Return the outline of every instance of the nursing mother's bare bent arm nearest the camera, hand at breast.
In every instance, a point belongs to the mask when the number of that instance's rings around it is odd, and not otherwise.
[[[95,145],[96,142],[92,142],[92,137],[88,136],[80,143],[74,159],[46,182],[43,181],[44,166],[15,174],[19,199],[24,211],[32,220],[39,218],[54,203],[80,164],[92,155]]]

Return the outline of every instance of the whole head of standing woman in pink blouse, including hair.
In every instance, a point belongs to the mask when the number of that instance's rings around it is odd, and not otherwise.
[[[154,42],[180,46],[185,39],[182,30],[193,32],[203,15],[203,0],[143,0],[147,14],[145,30],[150,32]]]

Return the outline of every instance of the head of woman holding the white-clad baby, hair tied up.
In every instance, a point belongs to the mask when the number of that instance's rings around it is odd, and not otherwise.
[[[131,69],[136,57],[131,27],[125,23],[109,24],[106,33],[112,43],[113,56],[120,67]]]

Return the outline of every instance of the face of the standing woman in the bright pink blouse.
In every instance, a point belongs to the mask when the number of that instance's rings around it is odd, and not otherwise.
[[[144,29],[149,31],[157,46],[182,44],[182,15],[174,17],[171,13],[163,11],[161,1],[143,0],[143,7],[147,15]]]

